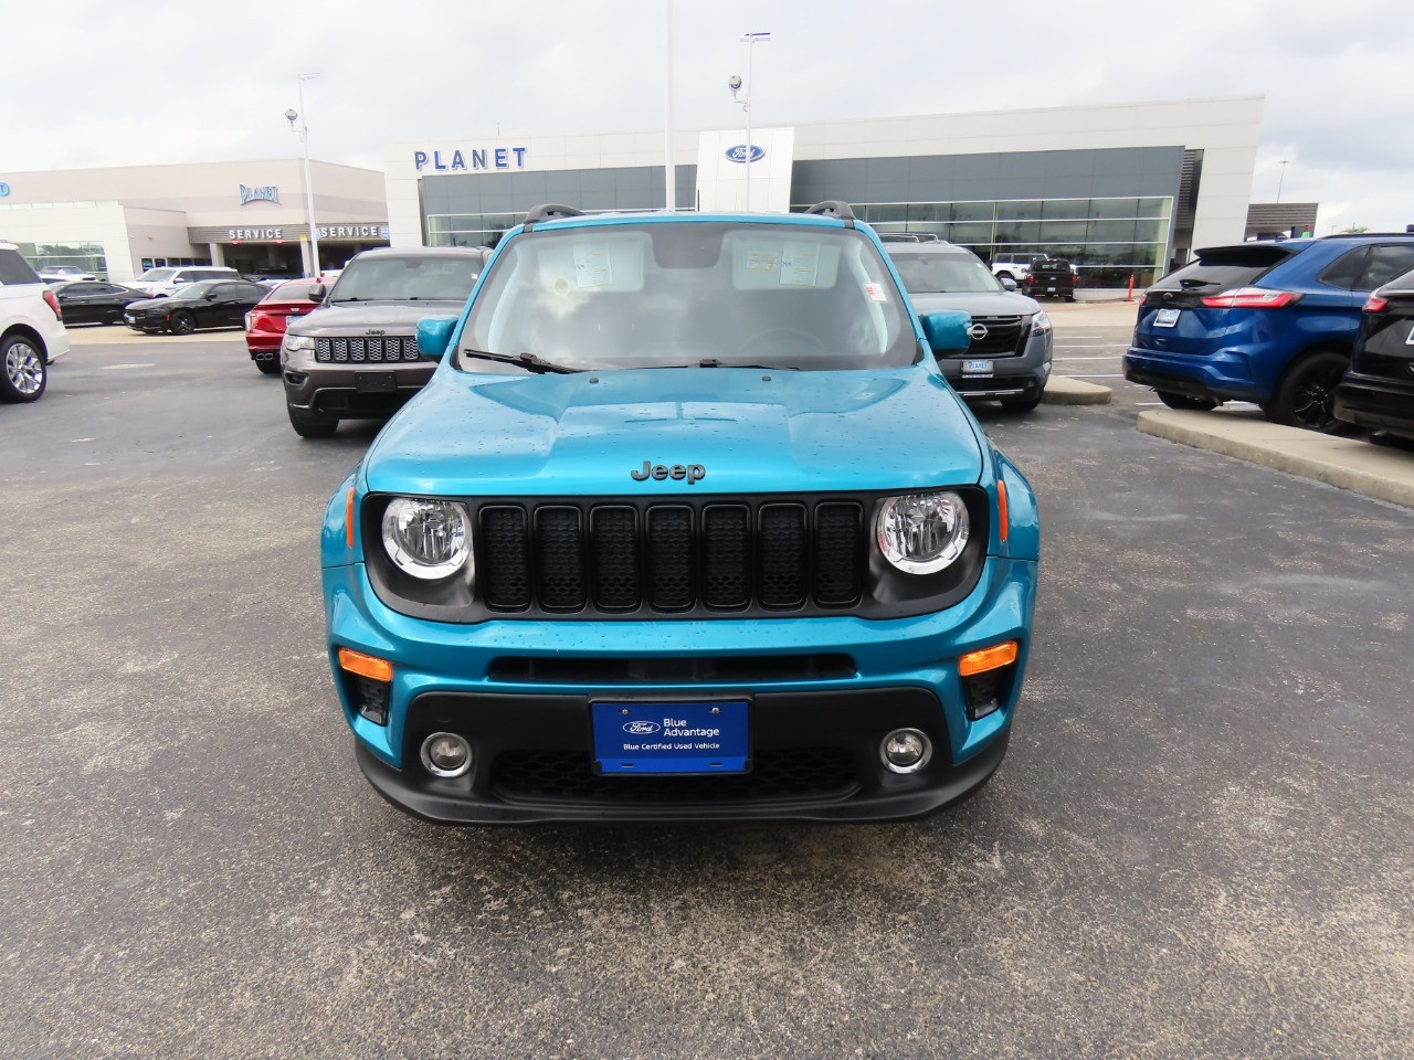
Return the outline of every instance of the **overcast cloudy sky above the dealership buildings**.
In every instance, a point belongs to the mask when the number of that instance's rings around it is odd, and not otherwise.
[[[677,124],[1266,93],[1253,201],[1332,225],[1414,223],[1410,0],[1008,3],[674,0]],[[81,165],[297,153],[380,167],[414,137],[660,129],[663,0],[0,0],[0,179]]]

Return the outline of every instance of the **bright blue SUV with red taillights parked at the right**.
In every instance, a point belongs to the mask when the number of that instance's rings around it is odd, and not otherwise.
[[[1411,235],[1199,250],[1144,295],[1124,377],[1171,408],[1256,401],[1275,423],[1338,430],[1335,389],[1365,298],[1411,267]]]

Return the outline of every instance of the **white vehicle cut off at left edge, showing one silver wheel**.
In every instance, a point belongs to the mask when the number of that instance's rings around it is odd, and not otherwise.
[[[14,243],[0,243],[0,401],[37,401],[69,352],[59,300]]]

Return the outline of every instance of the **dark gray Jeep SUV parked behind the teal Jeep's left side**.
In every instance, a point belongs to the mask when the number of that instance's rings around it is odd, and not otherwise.
[[[380,247],[358,254],[321,305],[280,343],[284,403],[303,438],[328,438],[339,420],[383,420],[423,389],[436,362],[417,355],[417,321],[461,312],[486,266],[486,247]]]

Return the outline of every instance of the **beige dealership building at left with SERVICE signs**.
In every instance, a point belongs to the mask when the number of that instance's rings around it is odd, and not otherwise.
[[[322,267],[387,245],[383,174],[311,160],[310,177]],[[0,240],[115,281],[175,264],[312,274],[307,218],[298,158],[0,172]]]

